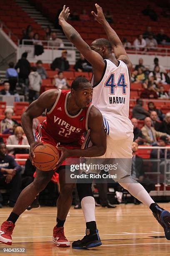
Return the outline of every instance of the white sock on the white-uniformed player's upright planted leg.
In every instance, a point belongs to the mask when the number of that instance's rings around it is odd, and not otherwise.
[[[83,197],[81,200],[82,212],[85,222],[95,221],[95,199],[94,197]]]

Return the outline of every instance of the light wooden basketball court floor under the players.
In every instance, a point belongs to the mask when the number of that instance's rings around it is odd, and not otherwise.
[[[170,210],[170,203],[160,206]],[[0,244],[2,248],[23,248],[26,253],[0,255],[70,256],[170,256],[170,241],[164,237],[162,227],[150,210],[141,205],[118,205],[115,209],[96,207],[96,220],[102,246],[87,250],[58,248],[52,241],[52,229],[56,219],[55,207],[41,207],[25,211],[13,231],[13,245]],[[0,209],[0,223],[7,219],[11,208]],[[70,241],[84,236],[85,224],[82,210],[70,209],[65,223],[65,235]]]

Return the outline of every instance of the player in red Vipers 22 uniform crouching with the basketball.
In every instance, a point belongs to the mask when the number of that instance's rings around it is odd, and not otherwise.
[[[106,135],[103,128],[103,119],[100,111],[91,103],[92,86],[85,77],[78,77],[72,82],[71,92],[65,90],[48,90],[32,102],[22,115],[22,126],[30,144],[30,159],[34,161],[34,148],[41,143],[49,143],[60,148],[63,146],[61,160],[72,156],[101,156],[106,151]],[[32,120],[46,111],[46,120],[38,125],[35,142],[32,132]],[[94,122],[94,120],[96,122]],[[80,149],[83,133],[90,129],[90,139],[93,146]],[[72,188],[74,184],[65,182],[65,172],[69,167],[62,162],[58,169],[60,182],[60,196],[57,200],[57,224],[53,229],[52,241],[57,246],[68,247],[70,242],[64,234],[63,225],[72,203]],[[32,203],[35,196],[45,189],[54,170],[43,172],[37,169],[34,181],[26,187],[18,200],[9,218],[2,223],[0,242],[12,244],[12,233],[15,222]]]

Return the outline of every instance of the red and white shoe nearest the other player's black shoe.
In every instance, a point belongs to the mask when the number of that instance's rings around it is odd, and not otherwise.
[[[67,240],[64,234],[64,227],[53,228],[52,242],[58,247],[70,247],[70,242]]]

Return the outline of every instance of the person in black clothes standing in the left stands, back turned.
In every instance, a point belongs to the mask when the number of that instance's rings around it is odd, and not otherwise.
[[[27,60],[27,52],[24,52],[21,56],[21,59],[18,60],[15,69],[20,69],[19,79],[20,82],[24,82],[28,86],[28,75],[30,74],[30,62]]]

